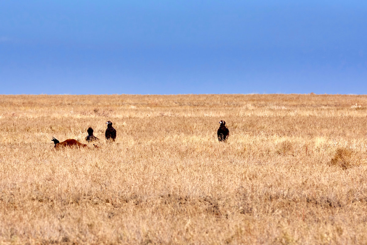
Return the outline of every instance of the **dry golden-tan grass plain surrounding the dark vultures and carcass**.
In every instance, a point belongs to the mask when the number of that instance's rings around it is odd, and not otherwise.
[[[353,95],[2,95],[0,244],[367,244],[366,117]]]

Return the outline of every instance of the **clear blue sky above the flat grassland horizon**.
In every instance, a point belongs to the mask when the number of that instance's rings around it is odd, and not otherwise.
[[[367,1],[0,0],[0,94],[367,94]]]

